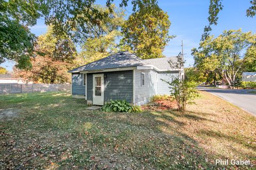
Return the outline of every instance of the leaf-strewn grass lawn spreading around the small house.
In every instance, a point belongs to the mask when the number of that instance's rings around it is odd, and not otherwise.
[[[186,113],[102,113],[66,92],[0,96],[0,169],[255,168],[256,118],[207,92],[195,103]]]

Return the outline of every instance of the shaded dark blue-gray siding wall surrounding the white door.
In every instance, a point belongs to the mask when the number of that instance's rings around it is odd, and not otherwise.
[[[102,72],[94,74],[104,74],[104,101],[126,100],[132,103],[132,70]],[[87,73],[87,100],[92,100],[93,73]]]

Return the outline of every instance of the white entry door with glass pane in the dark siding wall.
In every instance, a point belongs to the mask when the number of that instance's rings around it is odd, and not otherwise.
[[[92,103],[93,105],[104,105],[104,76],[93,74]]]

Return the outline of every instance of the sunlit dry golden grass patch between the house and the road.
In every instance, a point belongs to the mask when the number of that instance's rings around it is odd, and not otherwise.
[[[250,159],[255,165],[256,118],[207,92],[200,93],[201,98],[195,100],[196,105],[189,105],[187,112],[170,112],[183,125],[167,132],[185,133],[197,141],[212,162],[217,158]]]

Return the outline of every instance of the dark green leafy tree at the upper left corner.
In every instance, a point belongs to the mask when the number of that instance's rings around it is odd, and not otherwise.
[[[35,36],[28,26],[47,14],[43,1],[0,0],[0,63],[17,62],[20,69],[31,67]]]

